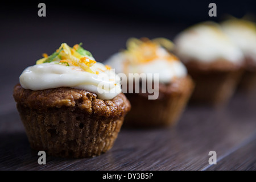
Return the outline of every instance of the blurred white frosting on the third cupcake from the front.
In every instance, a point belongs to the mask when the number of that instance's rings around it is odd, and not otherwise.
[[[175,38],[176,53],[184,62],[212,63],[218,60],[242,64],[243,53],[214,22],[203,22],[184,30]]]

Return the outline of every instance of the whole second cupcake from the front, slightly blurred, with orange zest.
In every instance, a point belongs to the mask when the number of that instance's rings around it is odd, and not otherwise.
[[[125,118],[125,126],[166,127],[179,121],[194,84],[184,64],[168,51],[172,47],[173,44],[163,38],[131,38],[127,40],[127,49],[106,60],[118,75],[127,77],[122,77],[122,89],[131,103],[131,111]],[[141,79],[135,81],[131,77],[135,75]],[[154,93],[156,97],[149,90],[151,86],[143,89],[146,82],[147,85],[152,82],[152,88],[158,92]]]

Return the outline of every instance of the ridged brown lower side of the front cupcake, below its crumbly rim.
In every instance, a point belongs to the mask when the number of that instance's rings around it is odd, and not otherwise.
[[[17,105],[30,145],[48,155],[85,158],[112,148],[123,116],[109,119],[68,108],[39,110]]]

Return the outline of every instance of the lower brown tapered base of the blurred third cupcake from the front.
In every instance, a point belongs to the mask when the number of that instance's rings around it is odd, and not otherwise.
[[[196,84],[191,101],[213,106],[225,105],[236,91],[242,72],[242,70],[189,72]]]

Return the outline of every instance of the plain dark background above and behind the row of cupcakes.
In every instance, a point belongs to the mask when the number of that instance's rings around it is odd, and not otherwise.
[[[38,4],[46,3],[46,17]],[[209,17],[209,3],[217,17]],[[253,17],[255,1],[18,1],[0,5],[0,81],[3,103],[13,102],[13,86],[23,69],[35,64],[42,53],[51,54],[61,43],[82,42],[97,61],[125,48],[130,37],[173,39],[194,23],[219,22],[227,15]],[[6,90],[7,89],[7,90]]]

